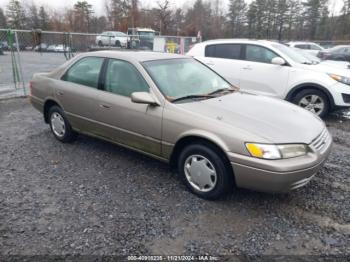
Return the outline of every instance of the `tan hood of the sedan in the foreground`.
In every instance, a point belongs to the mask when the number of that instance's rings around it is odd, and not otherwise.
[[[188,113],[204,114],[214,121],[250,132],[272,144],[310,144],[325,128],[320,118],[289,102],[243,92],[178,106]]]

